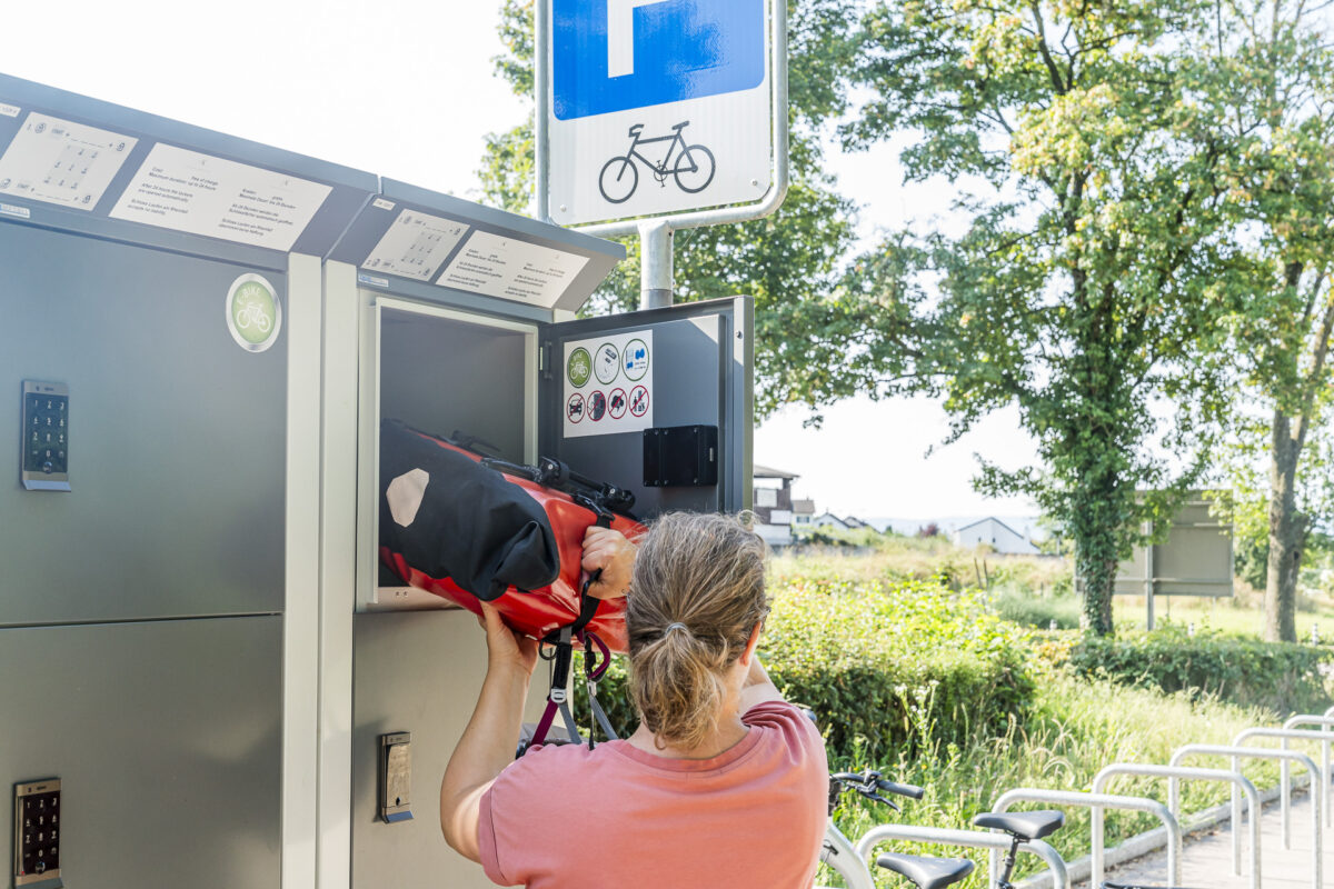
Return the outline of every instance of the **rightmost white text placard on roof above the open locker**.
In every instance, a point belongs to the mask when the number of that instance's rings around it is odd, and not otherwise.
[[[472,232],[436,284],[551,308],[587,264],[578,253]]]

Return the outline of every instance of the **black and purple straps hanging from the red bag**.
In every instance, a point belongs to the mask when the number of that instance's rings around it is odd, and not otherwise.
[[[611,528],[611,513],[602,508],[600,504],[591,501],[590,498],[575,496],[575,502],[579,505],[592,509],[598,514],[596,525],[599,528]],[[555,722],[556,713],[560,713],[560,718],[566,725],[566,733],[570,736],[571,744],[583,744],[583,736],[579,734],[579,724],[575,721],[574,712],[570,709],[568,692],[566,685],[570,682],[570,665],[574,661],[574,642],[583,642],[584,648],[584,682],[588,689],[588,708],[592,710],[592,720],[588,725],[588,748],[594,746],[594,721],[602,728],[603,734],[608,741],[616,740],[616,732],[611,726],[611,721],[607,718],[607,713],[602,709],[602,704],[598,702],[598,682],[602,681],[603,674],[607,672],[607,666],[611,664],[611,650],[607,644],[603,642],[596,633],[584,629],[588,622],[596,616],[598,605],[602,604],[600,598],[588,594],[588,589],[602,578],[602,569],[592,572],[588,578],[583,582],[579,590],[579,617],[574,622],[562,626],[559,630],[550,633],[542,640],[543,645],[551,646],[551,653],[546,650],[542,652],[543,660],[551,662],[551,684],[547,690],[547,708],[542,713],[542,718],[538,721],[538,728],[532,733],[532,738],[527,744],[520,744],[515,758],[519,758],[527,750],[538,744],[543,744],[547,740],[547,732],[551,730],[552,722]],[[594,648],[598,648],[602,657],[598,662],[594,662]]]

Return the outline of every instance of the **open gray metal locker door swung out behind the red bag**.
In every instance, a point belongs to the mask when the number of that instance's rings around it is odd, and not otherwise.
[[[628,488],[635,494],[635,513],[651,518],[667,510],[738,512],[744,508],[744,458],[750,450],[750,367],[746,348],[746,300],[690,303],[647,312],[555,324],[544,333],[551,349],[548,361],[560,363],[564,341],[598,333],[652,331],[654,425],[706,424],[719,428],[719,480],[706,488],[646,488],[643,485],[643,435],[639,432],[564,439],[562,436],[560,373],[543,376],[546,412],[542,421],[542,452],[566,461],[578,472]],[[740,336],[738,336],[740,335]],[[740,352],[736,349],[740,344]],[[739,473],[742,477],[739,477]]]

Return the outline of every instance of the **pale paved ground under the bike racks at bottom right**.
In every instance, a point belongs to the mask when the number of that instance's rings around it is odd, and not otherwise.
[[[1311,849],[1311,801],[1306,794],[1295,797],[1291,813],[1293,848],[1285,849],[1282,842],[1282,818],[1277,802],[1265,806],[1261,818],[1261,888],[1298,889],[1315,886],[1314,854]],[[1334,886],[1334,830],[1325,826],[1322,845],[1322,870],[1326,885]],[[1242,821],[1242,874],[1233,873],[1231,825],[1223,822],[1218,828],[1186,837],[1182,856],[1182,886],[1191,889],[1253,889],[1250,874],[1250,829]],[[1109,880],[1134,885],[1143,881],[1150,886],[1166,886],[1166,853],[1157,852],[1145,858],[1127,861],[1109,872]],[[1090,889],[1089,884],[1075,884],[1075,889]]]

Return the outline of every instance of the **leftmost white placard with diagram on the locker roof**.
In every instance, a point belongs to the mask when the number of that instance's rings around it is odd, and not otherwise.
[[[91,211],[137,144],[131,136],[33,112],[0,157],[0,193]]]

